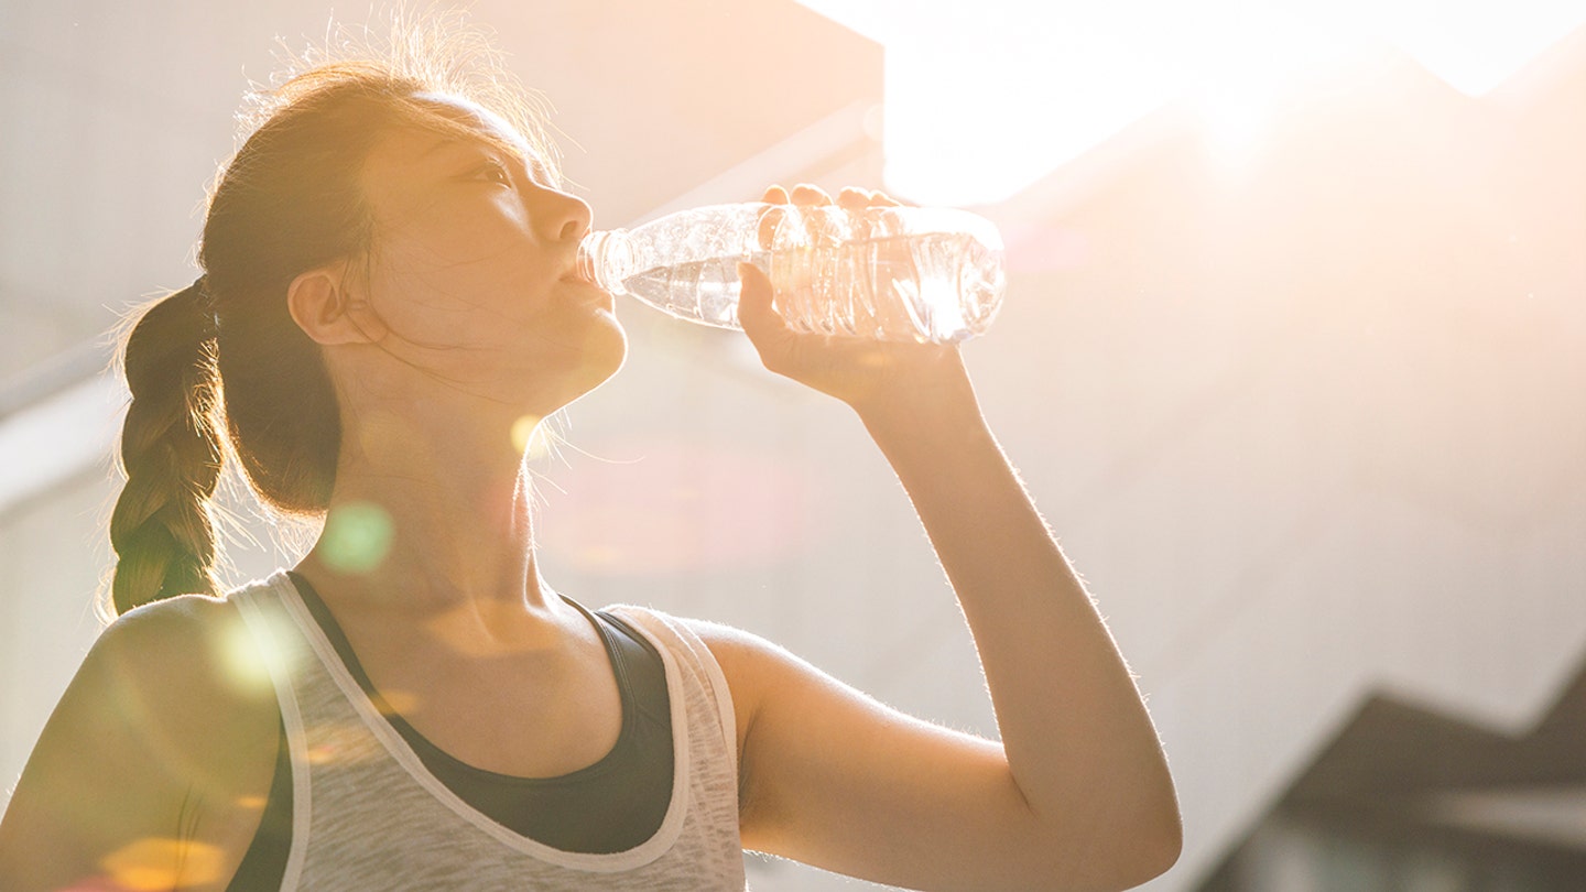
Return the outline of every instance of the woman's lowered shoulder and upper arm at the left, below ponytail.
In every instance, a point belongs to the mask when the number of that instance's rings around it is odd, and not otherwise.
[[[179,598],[100,635],[0,821],[0,887],[224,887],[270,787],[279,714],[268,676],[243,668],[239,630],[232,605]]]

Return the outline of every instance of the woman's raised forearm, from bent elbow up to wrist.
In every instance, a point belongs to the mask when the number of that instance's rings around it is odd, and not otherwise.
[[[1009,770],[1055,844],[1077,857],[1137,846],[1170,862],[1178,803],[1156,730],[961,367],[855,408],[963,605]]]

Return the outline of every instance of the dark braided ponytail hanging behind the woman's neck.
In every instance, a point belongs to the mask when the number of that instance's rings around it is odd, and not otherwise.
[[[205,279],[149,306],[121,351],[132,390],[121,433],[111,602],[117,614],[187,592],[214,594],[209,497],[220,476],[216,321]]]

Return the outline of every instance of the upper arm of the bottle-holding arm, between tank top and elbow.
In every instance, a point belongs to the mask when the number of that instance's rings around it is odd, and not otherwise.
[[[1061,881],[999,743],[891,709],[750,633],[693,627],[733,690],[744,848],[909,889]]]

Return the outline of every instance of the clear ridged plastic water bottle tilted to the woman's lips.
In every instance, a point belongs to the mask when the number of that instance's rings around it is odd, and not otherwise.
[[[611,294],[722,329],[741,329],[739,260],[771,276],[793,329],[887,341],[972,338],[1006,289],[996,227],[950,208],[714,205],[579,246],[580,273]]]

